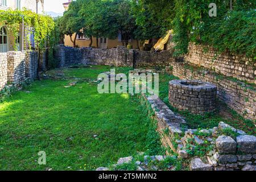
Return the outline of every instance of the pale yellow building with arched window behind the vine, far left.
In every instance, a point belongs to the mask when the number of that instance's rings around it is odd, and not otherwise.
[[[26,9],[31,10],[36,13],[43,12],[43,0],[0,0],[0,10],[7,9]],[[14,50],[14,43],[17,44],[18,50],[22,50],[22,26],[19,28],[18,39],[15,40],[11,31],[8,30],[6,26],[1,26],[0,24],[0,52],[7,52]],[[34,47],[34,36],[30,34],[30,42],[31,46]]]

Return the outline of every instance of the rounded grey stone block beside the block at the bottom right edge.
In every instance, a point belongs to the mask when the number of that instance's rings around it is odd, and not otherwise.
[[[237,142],[231,137],[221,135],[216,139],[216,147],[220,154],[234,154],[237,149]]]

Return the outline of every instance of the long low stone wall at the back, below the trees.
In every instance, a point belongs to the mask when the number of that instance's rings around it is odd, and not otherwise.
[[[59,45],[55,59],[59,67],[73,64],[113,65],[117,67],[166,66],[172,61],[170,51],[159,53],[138,51],[119,46],[112,49],[72,48]]]

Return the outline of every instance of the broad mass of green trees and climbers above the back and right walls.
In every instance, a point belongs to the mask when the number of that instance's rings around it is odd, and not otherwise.
[[[215,3],[217,15],[209,16]],[[78,34],[81,29],[89,38],[116,38],[122,33],[123,43],[158,39],[167,30],[174,30],[175,56],[187,53],[189,42],[206,44],[219,53],[255,57],[256,13],[253,0],[78,0],[64,14],[64,32]],[[65,26],[64,26],[65,27]],[[74,29],[75,28],[75,29]]]

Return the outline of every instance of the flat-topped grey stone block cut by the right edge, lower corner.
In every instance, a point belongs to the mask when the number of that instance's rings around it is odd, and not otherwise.
[[[256,153],[256,137],[252,135],[240,135],[237,137],[238,151]]]

